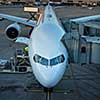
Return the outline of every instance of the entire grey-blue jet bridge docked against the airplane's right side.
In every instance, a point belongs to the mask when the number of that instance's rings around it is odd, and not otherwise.
[[[61,19],[66,31],[64,44],[69,50],[70,61],[81,64],[100,64],[100,20],[84,23]]]

